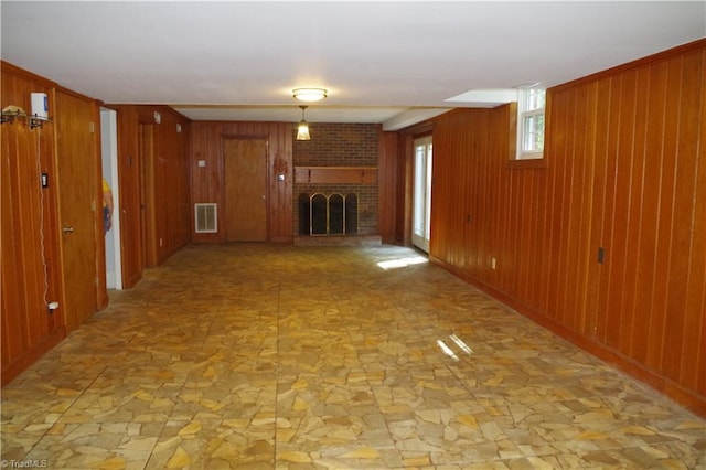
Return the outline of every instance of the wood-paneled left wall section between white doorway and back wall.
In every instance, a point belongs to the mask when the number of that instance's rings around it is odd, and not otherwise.
[[[143,268],[162,264],[191,242],[191,124],[167,106],[107,106],[118,118],[120,248],[128,288]]]

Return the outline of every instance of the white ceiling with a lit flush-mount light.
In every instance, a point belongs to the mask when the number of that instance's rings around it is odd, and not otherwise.
[[[320,86],[307,120],[386,129],[706,36],[706,1],[2,0],[0,18],[2,60],[105,103],[297,121],[291,89]]]

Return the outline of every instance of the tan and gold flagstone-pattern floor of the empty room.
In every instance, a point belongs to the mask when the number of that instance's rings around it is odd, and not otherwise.
[[[706,469],[706,421],[396,246],[191,245],[2,389],[2,467]]]

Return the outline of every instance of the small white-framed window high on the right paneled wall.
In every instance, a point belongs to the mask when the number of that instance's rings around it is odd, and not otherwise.
[[[523,88],[517,92],[517,160],[544,157],[544,104],[546,90]]]

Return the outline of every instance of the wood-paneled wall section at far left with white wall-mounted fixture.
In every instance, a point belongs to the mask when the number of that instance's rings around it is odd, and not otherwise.
[[[46,93],[55,116],[56,84],[2,63],[2,103],[31,111],[30,94]],[[2,139],[2,384],[8,383],[66,335],[60,299],[57,185],[54,126],[30,129],[26,119],[6,122]],[[41,189],[40,175],[50,177]]]

